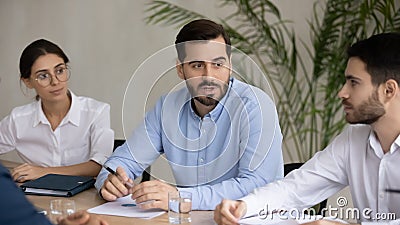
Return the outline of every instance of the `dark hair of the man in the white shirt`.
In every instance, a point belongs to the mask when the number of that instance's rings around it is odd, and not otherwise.
[[[400,84],[400,33],[382,33],[359,41],[347,49],[348,57],[358,57],[366,64],[372,84],[389,79]]]

